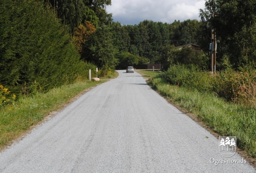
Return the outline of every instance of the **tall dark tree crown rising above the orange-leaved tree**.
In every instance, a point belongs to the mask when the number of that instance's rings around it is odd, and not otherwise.
[[[41,1],[41,0],[38,0]],[[112,22],[112,14],[105,10],[111,0],[44,0],[55,10],[57,18],[69,28],[74,29],[83,22],[90,21],[96,28]]]

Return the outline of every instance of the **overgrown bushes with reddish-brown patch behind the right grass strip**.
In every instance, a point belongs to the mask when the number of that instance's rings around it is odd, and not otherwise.
[[[184,86],[200,92],[214,92],[228,101],[256,106],[256,70],[227,69],[211,75],[194,66],[173,65],[161,75],[171,85]]]

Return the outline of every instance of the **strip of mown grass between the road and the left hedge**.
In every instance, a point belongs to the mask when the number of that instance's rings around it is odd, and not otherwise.
[[[0,109],[0,150],[21,134],[38,124],[51,112],[62,109],[87,89],[114,78],[118,73],[101,78],[99,82],[76,82],[21,98],[17,103]]]

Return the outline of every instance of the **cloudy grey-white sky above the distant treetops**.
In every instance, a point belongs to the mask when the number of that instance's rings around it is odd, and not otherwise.
[[[205,0],[111,0],[107,12],[122,25],[139,24],[144,20],[172,23],[198,19],[199,9],[205,9]]]

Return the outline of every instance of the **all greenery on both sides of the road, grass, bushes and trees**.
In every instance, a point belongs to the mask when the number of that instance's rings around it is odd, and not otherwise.
[[[108,5],[111,0],[0,1],[0,145],[95,85],[89,69],[95,77],[97,67],[102,79],[115,69],[157,63],[163,72],[140,71],[154,88],[215,132],[237,136],[256,158],[256,1],[206,0],[200,21],[138,25],[113,22]],[[213,41],[215,74],[209,72]]]

